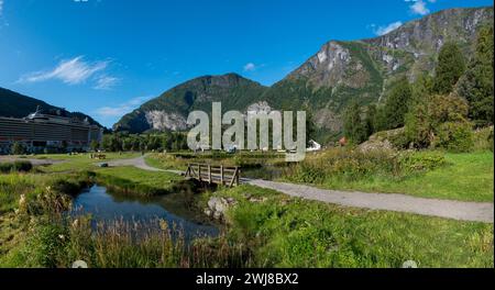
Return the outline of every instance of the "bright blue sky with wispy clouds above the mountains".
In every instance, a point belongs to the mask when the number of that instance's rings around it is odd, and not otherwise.
[[[272,85],[330,40],[372,37],[488,0],[0,0],[0,87],[90,114],[124,113],[194,77]]]

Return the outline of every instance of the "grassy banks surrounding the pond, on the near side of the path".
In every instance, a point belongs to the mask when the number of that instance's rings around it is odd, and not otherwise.
[[[10,192],[0,194],[10,204],[1,213],[0,266],[70,267],[84,259],[90,267],[394,268],[413,259],[419,267],[493,267],[493,224],[341,208],[246,185],[195,196],[201,212],[211,198],[233,202],[222,216],[226,231],[190,247],[184,239],[170,239],[169,225],[160,221],[160,231],[145,231],[146,238],[136,242],[131,237],[143,231],[142,224],[116,222],[91,235],[85,219],[54,223],[51,211],[23,213],[22,194],[35,204],[64,204],[47,198],[59,196],[52,182],[72,183],[78,175],[82,179],[106,175],[140,185],[134,193],[141,186],[169,190],[182,178],[130,167],[98,168],[80,158],[68,159],[62,171],[59,164],[41,168],[42,172],[0,175],[2,192]],[[95,175],[84,174],[87,168]]]

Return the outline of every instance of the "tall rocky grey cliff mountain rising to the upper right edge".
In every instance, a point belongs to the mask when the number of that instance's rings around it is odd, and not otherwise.
[[[274,109],[306,108],[322,137],[337,135],[351,101],[362,105],[381,102],[397,78],[414,80],[420,74],[432,74],[446,42],[458,43],[470,57],[482,24],[493,25],[493,8],[444,10],[378,37],[330,41],[263,99]]]

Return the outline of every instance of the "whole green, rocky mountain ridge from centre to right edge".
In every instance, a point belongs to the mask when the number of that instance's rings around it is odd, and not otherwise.
[[[317,124],[317,138],[324,142],[341,133],[342,113],[351,101],[361,105],[378,103],[398,78],[407,76],[414,80],[420,74],[432,74],[438,52],[446,42],[458,43],[470,57],[476,30],[484,24],[493,25],[493,7],[443,10],[378,37],[330,41],[270,88],[233,74],[194,79],[125,115],[114,129],[183,130],[191,110],[207,107],[210,111],[211,101],[222,101],[223,111],[243,111],[252,104],[307,110]],[[244,86],[227,81],[231,78],[242,79]]]

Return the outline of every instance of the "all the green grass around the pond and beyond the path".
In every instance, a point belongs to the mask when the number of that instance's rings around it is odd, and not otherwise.
[[[135,156],[109,154],[108,158]],[[391,178],[382,172],[364,179],[355,175],[353,181],[341,177],[323,179],[317,186],[493,201],[492,153],[443,156],[446,165],[407,176]],[[152,157],[148,164],[169,168],[187,160],[168,163]],[[409,259],[419,267],[494,265],[493,224],[342,208],[253,186],[194,194],[199,210],[211,197],[231,197],[237,205],[227,212],[223,235],[197,241],[189,250],[180,239],[170,241],[166,232],[146,232],[146,238],[138,242],[130,225],[112,225],[109,232],[90,234],[88,228],[75,228],[72,221],[47,219],[40,209],[51,211],[51,202],[59,202],[57,197],[47,198],[47,192],[73,191],[92,178],[124,193],[148,197],[182,190],[183,178],[134,167],[99,168],[97,160],[84,155],[44,158],[65,161],[29,174],[0,175],[0,267],[68,267],[78,258],[87,259],[92,267],[396,268]],[[318,160],[319,156],[310,158]],[[258,161],[255,156],[251,159]],[[38,209],[36,214],[15,213],[22,209],[21,194]]]

